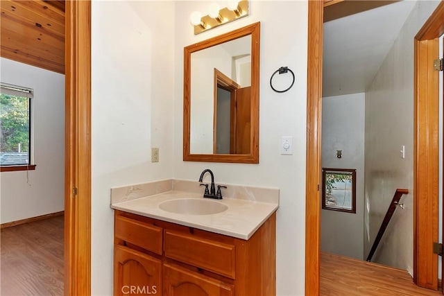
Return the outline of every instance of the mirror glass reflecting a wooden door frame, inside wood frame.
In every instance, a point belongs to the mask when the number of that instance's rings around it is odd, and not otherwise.
[[[250,89],[251,35],[191,53],[191,153],[250,153]]]

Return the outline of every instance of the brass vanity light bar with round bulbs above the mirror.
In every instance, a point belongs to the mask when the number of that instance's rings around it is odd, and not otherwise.
[[[217,3],[210,5],[210,11],[205,17],[201,17],[200,12],[194,11],[189,16],[191,24],[194,26],[194,35],[205,32],[216,26],[227,24],[230,21],[246,17],[248,15],[248,1],[228,1],[226,8],[219,9]]]

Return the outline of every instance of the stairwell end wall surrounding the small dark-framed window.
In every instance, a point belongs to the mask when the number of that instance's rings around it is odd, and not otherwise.
[[[321,210],[321,250],[364,259],[365,94],[322,99],[322,166],[356,169],[356,214]],[[342,157],[336,158],[336,150]]]

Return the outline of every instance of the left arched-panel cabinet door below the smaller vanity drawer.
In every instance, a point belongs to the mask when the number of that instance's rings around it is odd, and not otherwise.
[[[114,295],[162,295],[162,261],[114,245]]]

